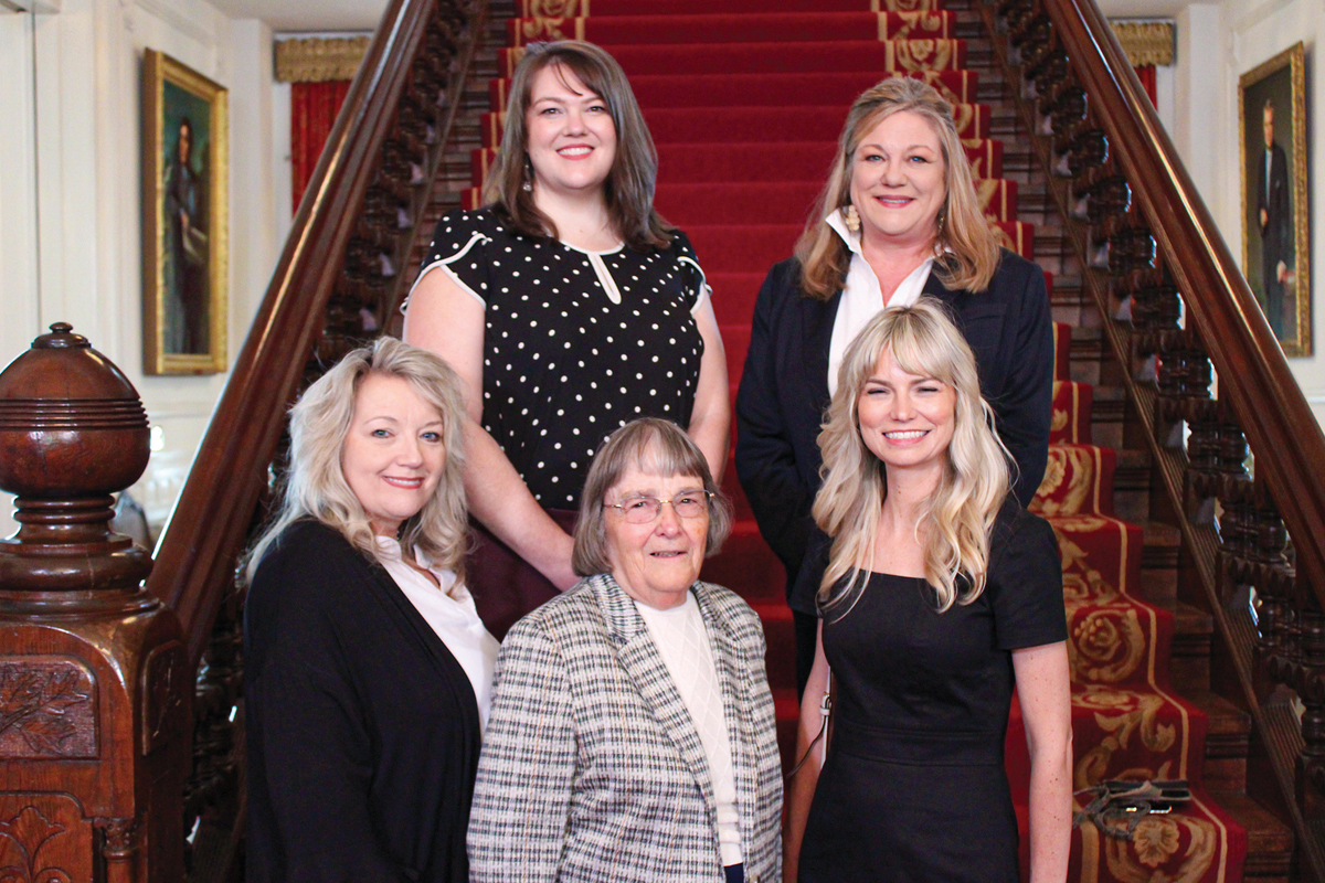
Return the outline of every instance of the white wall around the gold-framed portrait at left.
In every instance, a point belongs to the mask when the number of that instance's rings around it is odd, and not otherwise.
[[[270,30],[205,0],[64,0],[58,13],[0,13],[0,365],[57,320],[118,364],[160,428],[162,449],[132,488],[159,523],[227,376],[142,372],[144,48],[229,89],[232,364],[244,342],[289,224],[276,191]]]

